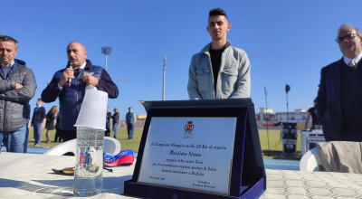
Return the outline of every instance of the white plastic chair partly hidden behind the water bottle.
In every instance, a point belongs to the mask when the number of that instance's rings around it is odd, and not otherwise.
[[[119,140],[113,137],[104,137],[103,152],[109,154],[118,154],[120,151]],[[62,144],[52,147],[45,151],[44,155],[54,156],[74,156],[77,153],[77,139],[71,139]]]

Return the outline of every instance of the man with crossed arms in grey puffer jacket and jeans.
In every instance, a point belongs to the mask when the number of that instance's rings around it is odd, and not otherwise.
[[[0,35],[0,145],[3,143],[7,152],[26,153],[29,100],[36,82],[26,63],[14,59],[17,47],[14,38]]]

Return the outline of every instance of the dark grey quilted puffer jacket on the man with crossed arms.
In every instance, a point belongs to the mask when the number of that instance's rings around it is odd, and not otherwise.
[[[5,78],[0,72],[0,132],[12,133],[24,127],[30,118],[29,100],[33,99],[36,81],[26,63],[14,59],[14,65]],[[15,89],[16,83],[23,85]]]

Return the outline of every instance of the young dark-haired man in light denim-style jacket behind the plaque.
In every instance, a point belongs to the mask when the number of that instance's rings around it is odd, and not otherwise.
[[[191,60],[187,85],[190,100],[250,97],[250,62],[242,49],[226,40],[231,27],[224,10],[210,11],[206,29],[212,42]]]

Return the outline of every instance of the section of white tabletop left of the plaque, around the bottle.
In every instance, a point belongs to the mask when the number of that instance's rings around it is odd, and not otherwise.
[[[0,153],[0,198],[75,198],[73,175],[56,175],[52,168],[75,166],[75,156]],[[123,183],[132,178],[134,165],[103,170],[103,190],[90,198],[129,198]],[[79,197],[81,198],[81,197]]]

